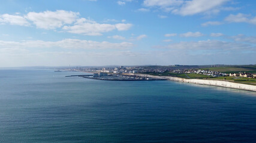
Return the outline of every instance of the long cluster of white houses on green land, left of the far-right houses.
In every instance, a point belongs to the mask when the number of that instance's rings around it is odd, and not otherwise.
[[[174,73],[197,73],[197,74],[204,74],[207,76],[227,76],[226,73],[221,73],[219,71],[210,71],[210,70],[173,70]]]

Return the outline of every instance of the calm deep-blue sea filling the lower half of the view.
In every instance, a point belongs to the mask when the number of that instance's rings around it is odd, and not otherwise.
[[[0,70],[0,142],[256,142],[255,92]]]

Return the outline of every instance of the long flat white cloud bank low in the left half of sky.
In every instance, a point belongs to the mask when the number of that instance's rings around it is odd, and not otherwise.
[[[62,41],[0,41],[1,48],[69,48],[69,49],[127,49],[133,46],[132,43],[110,43],[86,41],[80,39],[63,39]]]

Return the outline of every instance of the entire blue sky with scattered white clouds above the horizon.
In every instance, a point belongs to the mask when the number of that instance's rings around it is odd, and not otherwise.
[[[1,1],[0,67],[149,64],[256,64],[256,1]]]

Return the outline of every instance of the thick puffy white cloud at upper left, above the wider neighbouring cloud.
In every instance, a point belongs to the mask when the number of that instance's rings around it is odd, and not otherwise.
[[[25,18],[32,21],[38,28],[41,29],[56,29],[64,24],[72,24],[77,20],[79,13],[73,11],[44,11],[42,13],[30,12]]]

